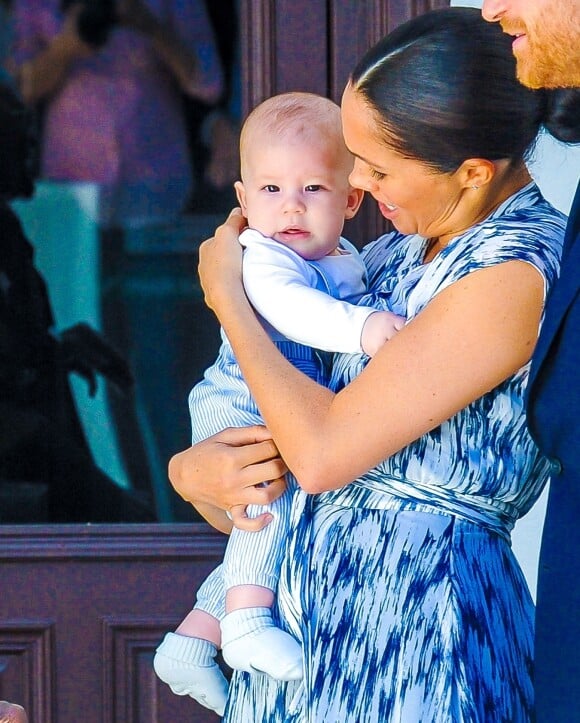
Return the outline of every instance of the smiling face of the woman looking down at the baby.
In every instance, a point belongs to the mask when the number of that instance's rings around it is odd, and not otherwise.
[[[344,139],[355,157],[351,184],[368,191],[401,233],[425,238],[458,233],[465,223],[457,174],[433,171],[385,145],[372,111],[350,85],[341,109]]]

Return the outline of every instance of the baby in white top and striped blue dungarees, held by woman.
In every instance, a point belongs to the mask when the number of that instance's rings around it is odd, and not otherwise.
[[[404,324],[389,311],[356,306],[366,270],[341,233],[363,192],[349,185],[353,159],[339,107],[310,93],[264,101],[244,123],[240,160],[235,189],[249,226],[240,236],[246,293],[280,351],[324,384],[323,352],[372,356]],[[226,427],[263,424],[223,332],[222,340],[216,362],[189,397],[194,444]],[[279,680],[302,677],[301,647],[272,616],[297,490],[287,477],[281,498],[248,509],[250,516],[267,510],[272,521],[260,532],[234,527],[223,565],[157,648],[157,675],[220,715],[228,687],[215,661],[220,647],[232,668]]]

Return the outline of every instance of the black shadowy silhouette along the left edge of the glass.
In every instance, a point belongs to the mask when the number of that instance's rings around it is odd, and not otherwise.
[[[151,502],[95,464],[69,386],[97,375],[130,393],[127,363],[93,328],[55,329],[48,291],[10,201],[34,192],[30,114],[0,79],[0,522],[154,521]]]

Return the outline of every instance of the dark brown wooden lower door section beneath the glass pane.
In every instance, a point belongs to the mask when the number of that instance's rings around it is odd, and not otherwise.
[[[151,663],[224,541],[205,523],[0,527],[0,697],[34,723],[213,723]]]

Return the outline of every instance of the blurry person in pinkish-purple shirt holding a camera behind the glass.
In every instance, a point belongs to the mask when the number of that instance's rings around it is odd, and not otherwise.
[[[100,184],[105,225],[176,218],[195,177],[183,97],[224,89],[203,0],[13,0],[12,24],[41,178]]]

